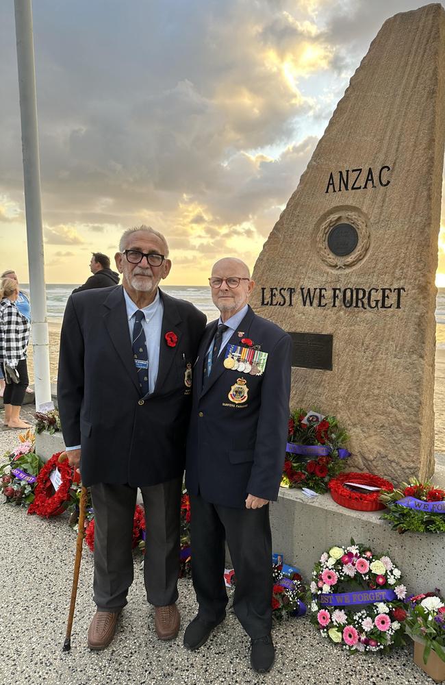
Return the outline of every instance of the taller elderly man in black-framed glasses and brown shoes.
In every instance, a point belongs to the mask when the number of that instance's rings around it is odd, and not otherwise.
[[[58,407],[66,453],[94,508],[90,649],[104,649],[133,581],[137,488],[147,519],[144,581],[161,640],[177,636],[179,521],[192,364],[205,316],[158,287],[171,262],[162,234],[123,234],[122,286],[68,299],[60,340]]]

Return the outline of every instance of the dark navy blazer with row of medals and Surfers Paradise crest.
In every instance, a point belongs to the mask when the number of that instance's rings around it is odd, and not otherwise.
[[[264,374],[225,369],[222,351],[203,384],[204,358],[217,325],[217,321],[207,325],[194,366],[186,486],[206,501],[243,508],[248,494],[270,500],[278,497],[288,436],[292,341],[249,307],[240,332],[268,353]],[[246,347],[238,332],[228,344]],[[238,378],[248,388],[242,403],[229,398]]]

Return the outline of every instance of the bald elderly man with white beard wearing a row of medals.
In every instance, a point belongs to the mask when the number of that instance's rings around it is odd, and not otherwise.
[[[251,666],[272,667],[269,501],[278,497],[290,395],[291,338],[257,316],[246,264],[225,258],[209,278],[220,310],[194,367],[187,440],[192,577],[197,616],[184,645],[199,649],[225,619],[225,540],[235,569],[233,610],[251,638]]]

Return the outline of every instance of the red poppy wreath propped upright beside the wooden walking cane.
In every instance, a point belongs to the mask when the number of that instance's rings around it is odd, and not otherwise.
[[[37,514],[44,519],[49,519],[50,516],[58,516],[62,514],[71,499],[70,489],[73,484],[73,467],[69,465],[68,460],[59,463],[59,457],[62,452],[53,454],[51,459],[44,464],[40,469],[36,489],[34,490],[34,502],[31,502],[28,509],[28,514]],[[58,469],[62,482],[57,492],[54,492],[53,484],[49,479],[50,474]]]

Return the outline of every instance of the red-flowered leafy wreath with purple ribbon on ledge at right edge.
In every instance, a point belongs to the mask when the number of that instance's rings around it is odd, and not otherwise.
[[[445,490],[430,481],[413,477],[398,490],[382,490],[380,499],[389,510],[381,519],[391,521],[392,530],[445,533]]]

